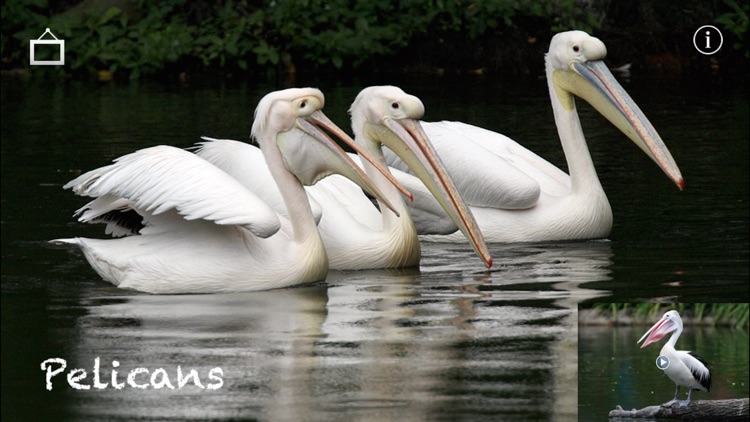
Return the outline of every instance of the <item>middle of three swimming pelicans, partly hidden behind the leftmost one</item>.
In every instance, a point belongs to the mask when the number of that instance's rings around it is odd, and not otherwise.
[[[354,139],[360,148],[382,166],[385,166],[382,145],[395,151],[417,177],[393,171],[401,178],[414,179],[411,185],[420,201],[434,197],[436,206],[450,217],[454,230],[460,228],[485,265],[491,266],[487,246],[471,212],[416,120],[424,114],[422,101],[397,87],[369,87],[357,96],[350,113]],[[243,157],[252,155],[254,147],[231,140],[204,139],[209,142],[202,144],[198,155],[226,169],[269,204],[280,204],[276,189],[255,183],[258,175],[251,177],[237,165],[249,160]],[[305,157],[297,155],[292,159],[305,160]],[[393,176],[382,173],[379,166],[367,160],[362,160],[361,164],[387,201],[393,204],[395,212],[386,208],[387,202],[381,202],[379,209],[374,207],[362,189],[340,176],[334,175],[307,187],[313,210],[319,217],[318,230],[328,252],[330,268],[361,270],[418,265],[419,238],[403,199],[403,189],[399,190],[398,184],[392,182]]]

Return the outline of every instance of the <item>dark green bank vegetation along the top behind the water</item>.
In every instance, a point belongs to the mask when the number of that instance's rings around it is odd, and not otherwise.
[[[735,49],[724,60],[746,65],[747,15],[748,2],[734,0],[6,0],[2,63],[4,72],[26,69],[29,40],[51,28],[66,42],[66,66],[44,69],[57,76],[524,73],[539,67],[552,34],[581,29],[631,45],[622,62],[646,43],[659,53],[651,60],[682,68],[691,34],[714,23]]]

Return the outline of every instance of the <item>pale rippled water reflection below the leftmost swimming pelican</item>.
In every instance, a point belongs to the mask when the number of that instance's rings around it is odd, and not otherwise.
[[[79,318],[73,341],[76,362],[90,365],[101,357],[105,368],[105,363],[118,360],[122,374],[136,367],[152,372],[164,368],[173,384],[176,368],[181,366],[185,371],[195,369],[204,386],[209,371],[218,367],[223,371],[223,385],[215,391],[191,384],[175,390],[108,388],[76,397],[80,402],[76,413],[230,418],[249,406],[291,417],[289,412],[300,409],[289,403],[312,403],[306,399],[307,392],[314,391],[308,372],[316,366],[312,347],[321,336],[326,302],[323,285],[258,294],[86,300],[87,312]],[[295,400],[273,408],[289,396]]]

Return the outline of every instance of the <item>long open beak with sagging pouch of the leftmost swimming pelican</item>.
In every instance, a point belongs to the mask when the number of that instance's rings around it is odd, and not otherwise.
[[[298,118],[295,125],[317,142],[305,142],[304,137],[294,135],[293,131],[290,131],[281,134],[277,138],[277,144],[287,168],[297,176],[302,184],[311,186],[333,173],[341,174],[359,185],[370,195],[383,201],[388,208],[398,215],[396,207],[386,199],[380,189],[375,186],[375,183],[319,126],[328,130],[352,147],[361,157],[370,161],[378,171],[383,173],[405,195],[411,196],[411,193],[388,170],[362,150],[346,132],[326,117],[322,111],[318,110],[307,117]]]

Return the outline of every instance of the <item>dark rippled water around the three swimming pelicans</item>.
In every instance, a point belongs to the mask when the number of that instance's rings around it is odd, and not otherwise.
[[[430,120],[501,131],[564,165],[543,80],[297,81],[326,93],[326,114],[342,127],[351,100],[373,83],[420,96]],[[491,272],[468,245],[431,243],[419,270],[332,273],[325,283],[259,293],[152,296],[116,289],[80,254],[48,246],[102,235],[75,221],[85,200],[62,185],[145,146],[247,139],[255,104],[278,86],[4,80],[3,419],[576,420],[578,303],[748,297],[746,87],[624,86],[668,144],[686,189],[581,105],[615,214],[608,240],[491,245]],[[113,370],[125,382],[135,368],[161,368],[175,389],[78,391],[61,374],[47,391],[40,365],[50,358],[85,369],[87,384],[97,358],[110,384]],[[204,387],[216,385],[208,375],[220,368],[221,387],[177,388],[178,366],[194,369]]]

